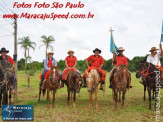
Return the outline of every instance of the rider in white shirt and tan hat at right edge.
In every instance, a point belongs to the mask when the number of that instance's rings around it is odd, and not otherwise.
[[[160,44],[160,52],[157,53],[157,50],[159,49],[157,49],[156,47],[151,48],[151,50],[149,51],[151,52],[151,54],[147,57],[147,62],[154,64],[160,70],[161,72],[160,78],[163,79],[163,69],[162,69],[161,62],[160,62],[160,57],[163,55],[161,44]],[[161,85],[163,86],[163,81],[161,81]]]

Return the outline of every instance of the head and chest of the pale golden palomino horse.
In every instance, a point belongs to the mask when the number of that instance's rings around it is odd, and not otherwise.
[[[93,84],[94,82],[98,82],[98,81],[99,81],[99,74],[97,70],[92,69],[89,73],[87,72],[86,82],[87,82],[88,92],[92,91],[92,88],[93,89],[95,88]]]

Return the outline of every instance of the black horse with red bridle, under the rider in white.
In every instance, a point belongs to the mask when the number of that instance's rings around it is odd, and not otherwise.
[[[146,87],[149,95],[149,109],[151,109],[151,90],[153,89],[153,99],[155,92],[155,84],[156,84],[156,73],[155,71],[159,71],[155,65],[148,62],[140,62],[138,65],[138,71],[136,72],[136,78],[140,78],[142,76],[143,84],[144,84],[144,100],[145,100],[145,91]],[[155,101],[156,102],[156,101]]]

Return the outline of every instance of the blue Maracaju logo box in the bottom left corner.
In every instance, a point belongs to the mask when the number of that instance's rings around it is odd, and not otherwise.
[[[3,121],[33,121],[32,105],[2,105]]]

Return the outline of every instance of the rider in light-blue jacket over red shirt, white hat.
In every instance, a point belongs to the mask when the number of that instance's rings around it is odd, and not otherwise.
[[[57,61],[53,58],[53,55],[54,55],[54,53],[52,51],[49,51],[47,53],[47,58],[44,60],[44,69],[43,69],[42,74],[41,74],[41,87],[42,87],[42,89],[45,88],[44,83],[47,80],[46,72],[50,70],[51,66],[57,66]]]

